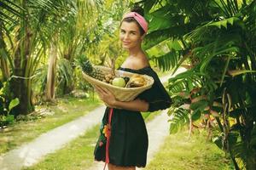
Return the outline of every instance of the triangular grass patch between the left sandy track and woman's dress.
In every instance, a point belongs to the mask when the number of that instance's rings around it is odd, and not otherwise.
[[[99,125],[92,127],[84,135],[68,143],[61,150],[49,154],[33,167],[24,170],[79,170],[88,169],[94,163],[93,151],[99,134]]]

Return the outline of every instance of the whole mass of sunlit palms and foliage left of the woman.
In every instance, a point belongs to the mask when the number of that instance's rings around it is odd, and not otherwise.
[[[56,93],[70,93],[75,87],[73,77],[78,76],[73,65],[78,55],[88,54],[103,64],[103,52],[110,51],[106,50],[108,44],[115,44],[106,39],[113,37],[117,23],[108,21],[117,22],[127,5],[124,1],[102,0],[0,3],[0,78],[9,82],[9,97],[20,99],[15,115],[33,111],[35,96],[51,101]],[[113,10],[117,11],[114,17],[109,12]],[[102,24],[107,22],[108,26]]]

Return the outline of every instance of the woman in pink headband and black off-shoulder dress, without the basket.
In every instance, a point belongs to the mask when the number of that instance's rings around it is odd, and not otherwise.
[[[153,77],[152,88],[139,94],[133,101],[122,102],[115,99],[107,89],[96,87],[96,92],[109,107],[102,119],[95,159],[108,163],[109,170],[135,170],[136,167],[146,166],[148,133],[140,111],[164,110],[172,103],[141,48],[147,31],[148,23],[143,18],[142,8],[134,8],[131,13],[125,14],[119,38],[129,56],[119,70]]]

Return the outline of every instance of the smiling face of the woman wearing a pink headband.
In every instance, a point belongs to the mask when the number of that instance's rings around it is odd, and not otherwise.
[[[120,26],[119,38],[125,49],[140,47],[143,40],[137,23],[126,21],[123,21]]]

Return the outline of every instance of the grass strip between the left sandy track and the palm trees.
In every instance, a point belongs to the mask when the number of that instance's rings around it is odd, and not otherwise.
[[[40,134],[71,122],[79,116],[84,116],[98,105],[100,105],[98,99],[66,97],[58,99],[57,105],[40,106],[39,109],[47,109],[49,113],[54,114],[28,122],[17,122],[10,127],[3,128],[0,131],[0,154],[36,139]]]

